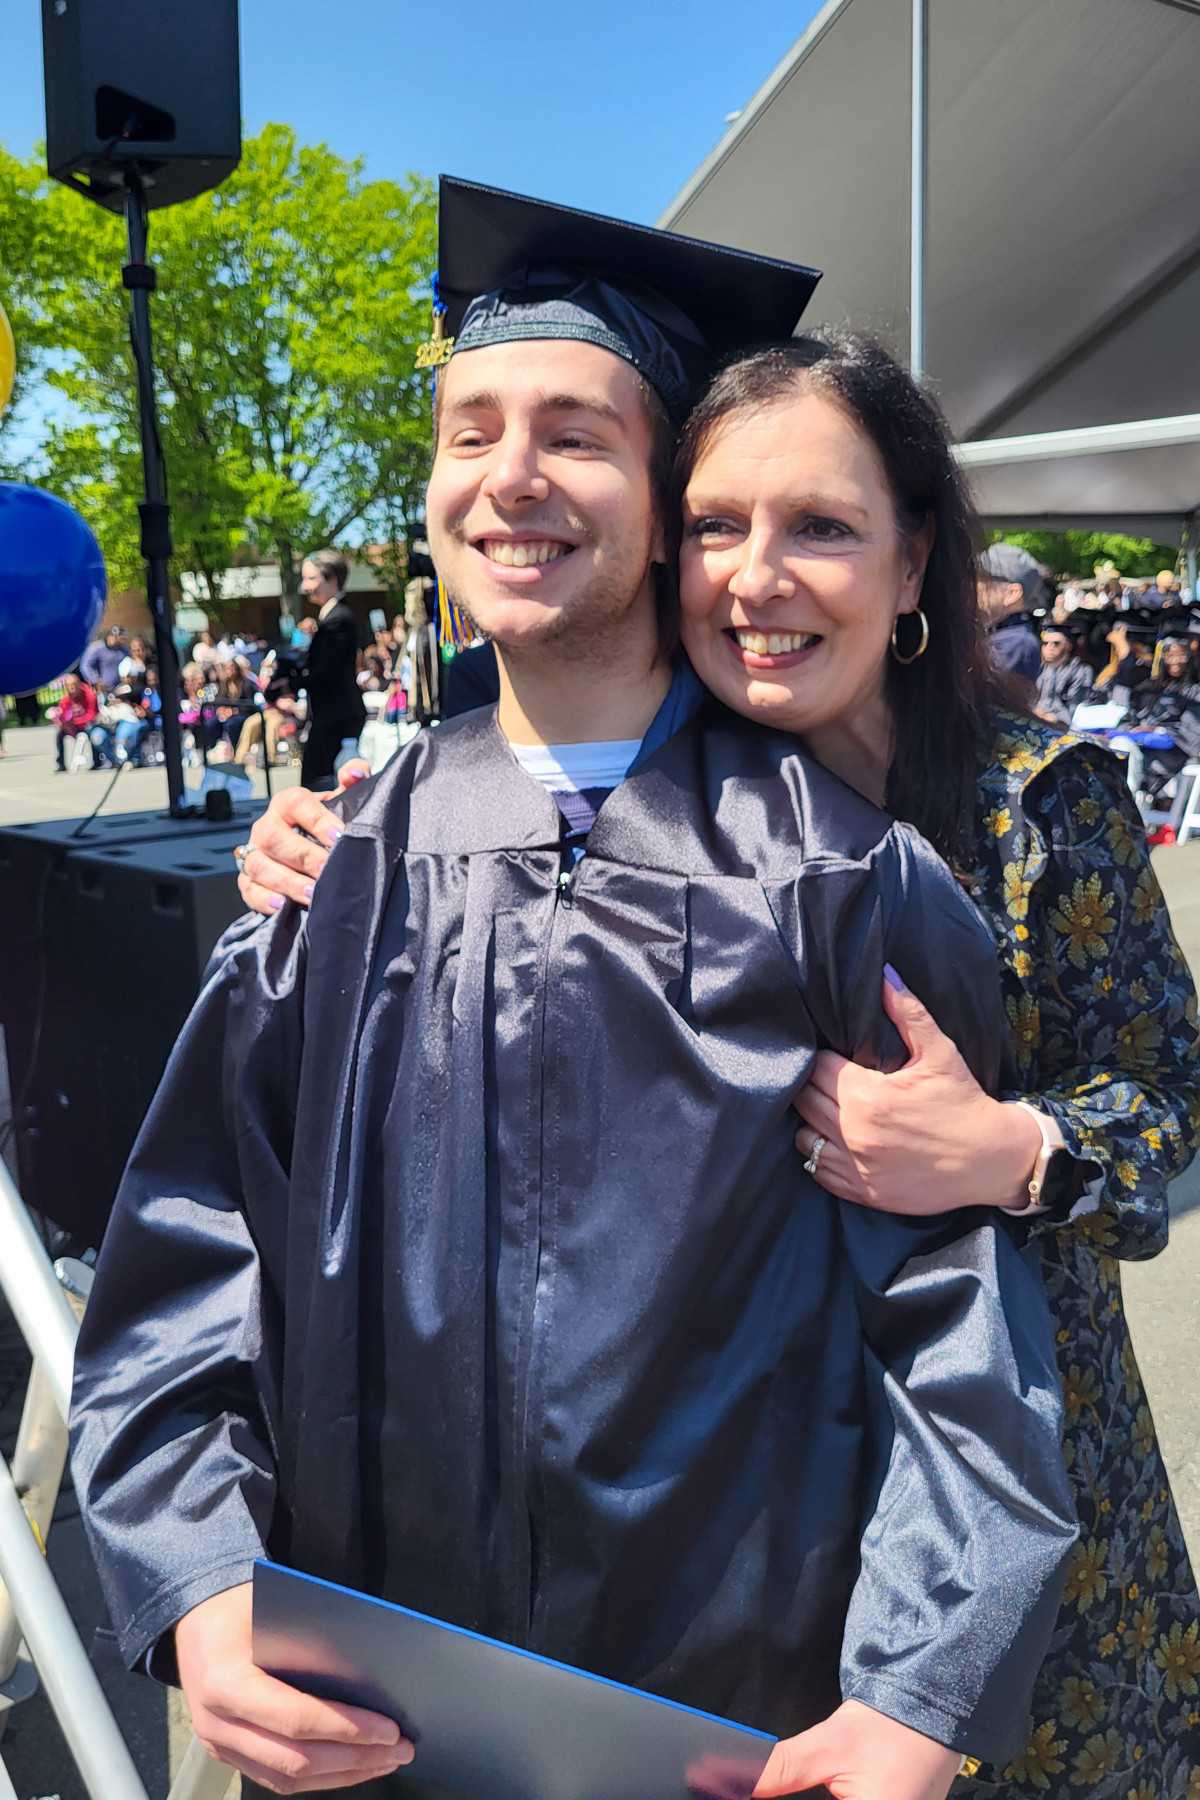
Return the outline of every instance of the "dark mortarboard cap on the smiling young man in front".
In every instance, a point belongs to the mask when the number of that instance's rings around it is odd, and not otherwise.
[[[723,356],[792,337],[819,281],[795,263],[441,178],[437,295],[455,351],[599,344],[676,423]]]

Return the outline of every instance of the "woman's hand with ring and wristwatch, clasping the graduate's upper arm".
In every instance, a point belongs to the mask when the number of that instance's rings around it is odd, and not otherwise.
[[[1022,1208],[1042,1150],[1025,1107],[993,1100],[916,994],[883,985],[883,1008],[909,1048],[892,1075],[822,1051],[797,1093],[797,1150],[824,1147],[817,1181],[840,1201],[891,1213],[959,1206]]]

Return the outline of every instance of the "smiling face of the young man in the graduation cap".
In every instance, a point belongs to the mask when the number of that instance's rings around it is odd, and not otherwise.
[[[486,637],[585,643],[653,607],[653,430],[626,362],[594,344],[493,344],[453,356],[437,398],[430,554]]]

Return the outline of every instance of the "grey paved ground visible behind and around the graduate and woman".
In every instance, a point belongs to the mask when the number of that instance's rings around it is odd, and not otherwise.
[[[54,740],[49,727],[9,729],[5,749],[9,754],[0,763],[0,824],[76,817],[90,810],[103,794],[104,776],[52,772]],[[284,770],[282,779],[295,776]],[[257,783],[261,790],[261,776]],[[121,776],[106,810],[135,812],[164,805],[162,772],[130,770]],[[1200,841],[1184,850],[1157,851],[1155,866],[1184,952],[1200,968]],[[1171,1199],[1171,1247],[1153,1262],[1126,1264],[1124,1292],[1184,1530],[1193,1552],[1200,1552],[1200,1163],[1175,1184]],[[13,1388],[20,1373],[14,1357],[14,1345],[11,1339],[5,1345],[0,1330],[0,1445],[5,1453],[11,1451],[20,1409],[20,1393],[11,1393],[5,1406],[5,1386]],[[59,1521],[50,1535],[50,1564],[85,1640],[90,1640],[101,1602],[70,1494],[63,1498]],[[169,1717],[160,1688],[128,1676],[113,1658],[103,1663],[101,1678],[142,1769],[149,1800],[162,1800],[167,1791],[167,1764],[175,1762],[185,1741],[180,1719]],[[43,1795],[86,1800],[41,1696],[16,1712],[4,1739],[4,1760],[20,1800]]]

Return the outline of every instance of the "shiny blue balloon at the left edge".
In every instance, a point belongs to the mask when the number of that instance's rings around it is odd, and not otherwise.
[[[74,506],[0,481],[0,693],[31,693],[77,662],[106,598],[101,547]]]

